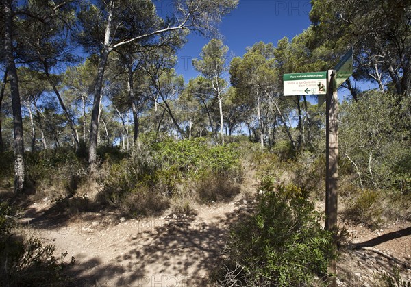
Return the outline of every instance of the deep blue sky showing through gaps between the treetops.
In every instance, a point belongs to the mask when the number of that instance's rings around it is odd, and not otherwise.
[[[171,1],[155,1],[159,12],[168,9]],[[224,45],[229,47],[229,56],[242,56],[245,48],[254,43],[277,41],[284,36],[292,39],[310,25],[309,0],[240,0],[236,10],[225,16],[220,25]],[[184,75],[186,82],[197,76],[192,68],[192,59],[199,57],[201,48],[208,39],[196,34],[188,36],[188,42],[177,53],[177,73]]]

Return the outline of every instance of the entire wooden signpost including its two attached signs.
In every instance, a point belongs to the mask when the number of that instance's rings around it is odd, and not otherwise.
[[[325,229],[334,232],[334,244],[336,245],[336,228],[338,213],[338,93],[337,88],[343,84],[353,73],[353,50],[350,49],[341,58],[334,70],[327,72],[284,74],[284,96],[290,95],[318,95],[326,96],[326,167],[325,167]],[[323,83],[325,77],[326,87],[319,90],[314,87]],[[315,79],[314,79],[315,78]],[[294,81],[294,82],[292,82]],[[304,85],[307,85],[304,86]],[[306,88],[306,89],[305,89]],[[309,92],[309,93],[308,93]],[[319,99],[319,106],[321,105]],[[336,261],[329,264],[329,272],[336,273]],[[335,277],[333,285],[336,284]]]

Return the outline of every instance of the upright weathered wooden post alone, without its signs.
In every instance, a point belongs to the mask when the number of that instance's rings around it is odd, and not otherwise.
[[[325,229],[334,232],[336,247],[336,227],[338,211],[338,95],[336,89],[336,71],[327,73],[326,100],[326,176],[325,176]],[[336,260],[329,263],[329,273],[336,274]],[[335,277],[332,285],[335,286]]]

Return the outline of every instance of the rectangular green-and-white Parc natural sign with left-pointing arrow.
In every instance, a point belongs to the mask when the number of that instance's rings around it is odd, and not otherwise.
[[[327,72],[284,74],[284,96],[325,95]]]

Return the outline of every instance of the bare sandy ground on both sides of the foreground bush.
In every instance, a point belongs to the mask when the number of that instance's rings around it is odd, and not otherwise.
[[[222,258],[228,227],[253,202],[195,205],[190,214],[126,219],[117,212],[67,216],[45,198],[29,205],[22,230],[47,244],[55,254],[68,252],[75,262],[66,273],[74,286],[207,286]],[[317,204],[323,210],[323,203]],[[340,250],[338,286],[378,286],[383,272],[411,282],[411,225],[390,223],[371,230],[344,225],[354,237]],[[401,264],[403,262],[405,264]]]

